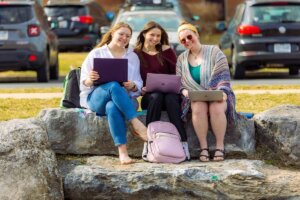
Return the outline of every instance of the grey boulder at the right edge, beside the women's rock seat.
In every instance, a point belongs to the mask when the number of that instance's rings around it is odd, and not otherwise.
[[[257,146],[265,158],[300,167],[300,106],[281,105],[254,116]],[[271,151],[271,152],[270,152]]]

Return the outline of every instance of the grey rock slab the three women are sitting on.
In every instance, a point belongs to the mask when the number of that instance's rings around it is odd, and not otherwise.
[[[44,109],[39,113],[39,119],[45,122],[52,149],[60,154],[94,154],[117,155],[106,117],[98,117],[95,113],[83,109]],[[139,118],[145,122],[145,115]],[[163,113],[163,121],[168,121]],[[191,122],[187,123],[188,143],[192,157],[199,156],[199,142]],[[128,135],[129,154],[141,156],[143,143]],[[225,137],[226,152],[230,155],[245,157],[255,151],[255,131],[253,120],[239,116],[236,125],[229,127]],[[209,132],[210,147],[214,146],[214,137]]]

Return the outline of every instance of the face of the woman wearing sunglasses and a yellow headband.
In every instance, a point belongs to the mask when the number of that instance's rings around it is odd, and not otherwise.
[[[194,31],[185,29],[179,33],[180,43],[187,49],[193,49],[199,44],[199,36]]]

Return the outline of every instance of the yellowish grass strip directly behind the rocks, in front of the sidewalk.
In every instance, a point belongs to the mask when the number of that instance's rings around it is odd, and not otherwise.
[[[282,104],[300,106],[300,94],[237,94],[237,111],[260,113]],[[59,107],[60,99],[1,99],[0,121],[35,117],[44,108]]]

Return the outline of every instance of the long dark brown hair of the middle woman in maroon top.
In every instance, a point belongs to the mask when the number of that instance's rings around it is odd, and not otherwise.
[[[142,55],[142,51],[144,48],[144,43],[145,43],[145,36],[144,34],[148,33],[150,30],[158,28],[161,31],[161,38],[160,38],[160,43],[155,46],[155,49],[158,51],[157,57],[158,61],[161,65],[163,65],[163,59],[162,59],[162,46],[163,45],[169,45],[169,37],[165,29],[161,27],[158,23],[154,21],[150,21],[146,23],[140,32],[140,34],[137,37],[137,42],[135,46],[135,52],[139,56],[142,65],[147,67],[147,63],[144,60],[144,57]]]

